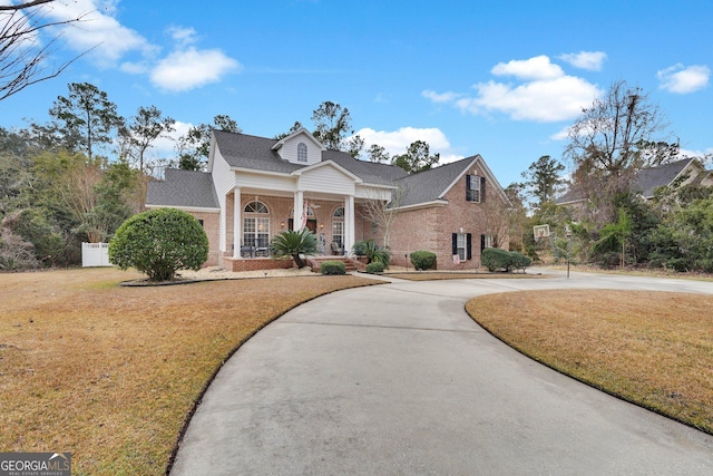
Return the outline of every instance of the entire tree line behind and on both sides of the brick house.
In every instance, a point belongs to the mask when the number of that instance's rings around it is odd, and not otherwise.
[[[170,159],[148,154],[174,130],[175,120],[155,106],[124,118],[107,94],[82,82],[68,85],[49,109],[46,124],[0,128],[0,269],[72,265],[84,241],[108,240],[129,216],[143,210],[146,183],[156,167],[205,169],[213,129],[241,133],[237,122],[216,115],[212,124],[192,126],[175,142]],[[417,140],[390,156],[379,145],[364,149],[351,116],[324,101],[312,114],[314,137],[329,149],[354,158],[418,173],[438,166],[439,155]],[[299,122],[275,138],[304,128]],[[711,188],[683,185],[685,177],[644,201],[632,188],[636,174],[678,157],[662,113],[648,96],[625,81],[583,109],[569,129],[563,162],[535,161],[524,181],[506,188],[511,203],[510,249],[533,259],[568,255],[582,263],[665,266],[713,272]],[[565,187],[579,206],[555,204]],[[494,212],[502,218],[500,212]],[[500,220],[501,221],[501,220]],[[499,222],[498,222],[499,223]],[[535,242],[534,225],[548,224],[553,236]],[[565,235],[569,230],[569,237]],[[498,237],[498,243],[504,242]]]

